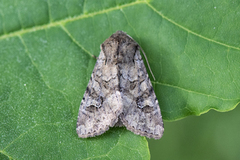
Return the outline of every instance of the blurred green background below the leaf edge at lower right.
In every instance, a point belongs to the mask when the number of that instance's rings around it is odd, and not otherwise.
[[[148,139],[151,160],[239,160],[240,105],[164,123],[160,140]]]

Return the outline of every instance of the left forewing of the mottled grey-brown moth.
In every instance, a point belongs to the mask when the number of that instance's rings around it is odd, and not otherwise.
[[[122,112],[117,67],[106,61],[101,51],[79,108],[77,133],[81,138],[104,133]]]

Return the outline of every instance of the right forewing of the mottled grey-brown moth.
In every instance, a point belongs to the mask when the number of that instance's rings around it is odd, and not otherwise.
[[[138,51],[137,51],[138,52]],[[130,69],[136,77],[126,77],[130,90],[123,94],[124,107],[120,118],[128,130],[159,139],[163,135],[163,122],[158,100],[139,53],[135,55],[135,65]]]

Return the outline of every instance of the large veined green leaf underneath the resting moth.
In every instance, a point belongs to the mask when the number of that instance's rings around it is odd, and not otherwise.
[[[123,128],[79,139],[78,108],[100,44],[116,30],[147,54],[163,118],[240,100],[236,1],[9,0],[0,4],[0,158],[149,159]],[[151,77],[151,75],[150,75]]]

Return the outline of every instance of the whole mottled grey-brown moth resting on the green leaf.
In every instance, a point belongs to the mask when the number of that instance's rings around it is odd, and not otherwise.
[[[80,104],[78,136],[94,137],[109,127],[125,126],[137,135],[161,138],[162,115],[138,43],[117,31],[100,48]]]

